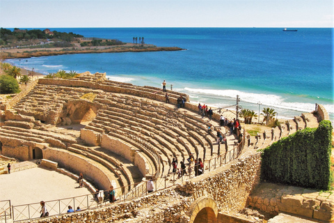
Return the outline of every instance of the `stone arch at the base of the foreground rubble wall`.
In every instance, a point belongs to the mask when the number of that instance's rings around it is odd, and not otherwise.
[[[214,199],[200,197],[191,204],[190,223],[216,223],[218,207]]]

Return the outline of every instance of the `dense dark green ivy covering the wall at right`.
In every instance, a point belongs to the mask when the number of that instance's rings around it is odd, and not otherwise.
[[[318,128],[305,128],[264,148],[262,180],[329,190],[331,133],[331,122],[325,120]]]

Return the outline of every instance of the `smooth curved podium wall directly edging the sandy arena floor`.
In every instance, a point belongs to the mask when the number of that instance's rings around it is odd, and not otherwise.
[[[65,168],[72,173],[84,174],[84,178],[100,190],[108,190],[111,185],[109,178],[99,167],[95,167],[95,165],[90,164],[79,156],[70,155],[66,151],[47,148],[43,151],[43,158],[58,162],[59,167]]]

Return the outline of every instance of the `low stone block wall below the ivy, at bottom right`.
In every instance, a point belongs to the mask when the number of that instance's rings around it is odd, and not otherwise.
[[[325,222],[334,220],[334,194],[302,187],[261,183],[247,204],[271,215],[285,212]]]

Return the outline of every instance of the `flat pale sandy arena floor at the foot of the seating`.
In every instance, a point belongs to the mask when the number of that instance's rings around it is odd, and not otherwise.
[[[17,206],[90,194],[88,189],[78,186],[68,176],[35,167],[0,175],[0,201],[10,200],[11,205]]]

